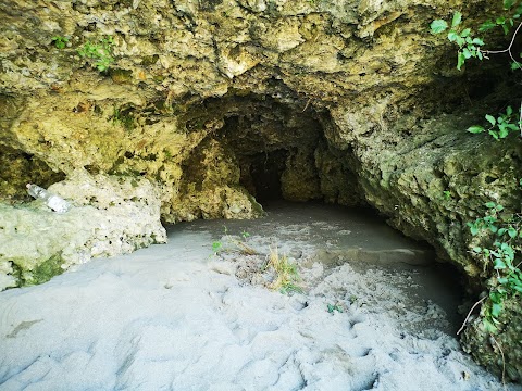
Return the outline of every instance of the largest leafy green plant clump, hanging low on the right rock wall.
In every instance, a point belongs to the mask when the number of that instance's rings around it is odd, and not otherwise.
[[[468,226],[471,235],[481,237],[486,243],[473,247],[473,255],[485,269],[493,272],[488,280],[490,304],[483,308],[483,323],[488,332],[495,333],[504,300],[522,293],[522,270],[519,268],[522,264],[522,216],[505,213],[504,206],[495,202],[485,206],[488,209],[485,216]]]

